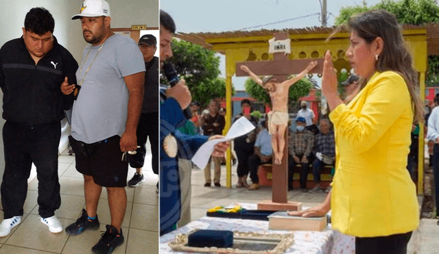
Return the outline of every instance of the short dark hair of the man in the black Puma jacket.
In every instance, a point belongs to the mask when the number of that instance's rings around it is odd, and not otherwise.
[[[48,31],[54,33],[54,17],[45,8],[32,8],[25,17],[25,30],[43,36]]]

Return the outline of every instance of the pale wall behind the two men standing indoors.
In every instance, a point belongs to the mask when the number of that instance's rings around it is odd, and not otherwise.
[[[158,0],[106,0],[111,10],[112,28],[130,28],[131,25],[158,27]],[[60,45],[67,48],[80,63],[86,42],[82,37],[81,22],[72,21],[78,14],[82,0],[0,0],[0,47],[14,38],[19,38],[24,27],[25,16],[31,8],[43,7],[54,16],[55,31]],[[0,93],[3,106],[3,94]],[[3,110],[0,110],[0,114]],[[0,118],[0,177],[4,170],[3,138],[1,131],[5,120]],[[0,178],[1,179],[1,178]],[[0,180],[1,181],[1,180]]]

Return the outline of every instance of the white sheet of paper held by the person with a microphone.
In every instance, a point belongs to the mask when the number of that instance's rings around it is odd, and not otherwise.
[[[209,157],[211,157],[215,144],[246,135],[254,128],[254,125],[245,116],[241,116],[241,118],[233,123],[232,127],[230,127],[227,135],[224,138],[209,140],[208,142],[202,144],[200,149],[198,149],[195,155],[193,155],[192,162],[197,165],[198,168],[203,169],[209,162]]]

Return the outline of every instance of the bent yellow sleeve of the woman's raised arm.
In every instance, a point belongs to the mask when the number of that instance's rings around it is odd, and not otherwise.
[[[366,98],[364,105],[359,106],[359,115],[344,104],[329,114],[337,135],[346,138],[352,150],[358,153],[374,146],[407,110],[407,105],[412,107],[410,93],[401,75],[394,72],[375,74],[369,82],[361,95]],[[361,97],[357,103],[363,103]]]

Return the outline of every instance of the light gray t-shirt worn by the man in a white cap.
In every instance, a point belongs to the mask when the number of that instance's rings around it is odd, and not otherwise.
[[[76,77],[78,83],[84,81],[78,99],[73,103],[71,136],[87,144],[115,135],[122,136],[126,131],[129,97],[125,77],[145,71],[143,55],[137,43],[115,34],[103,45],[87,45],[81,64]],[[91,68],[84,77],[88,66]],[[128,151],[131,148],[128,147]]]

